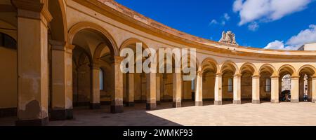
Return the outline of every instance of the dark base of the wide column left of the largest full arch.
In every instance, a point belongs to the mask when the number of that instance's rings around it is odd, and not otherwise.
[[[51,110],[49,120],[71,120],[73,117],[72,109]]]

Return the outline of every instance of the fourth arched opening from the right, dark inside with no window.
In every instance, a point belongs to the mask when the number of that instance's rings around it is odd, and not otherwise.
[[[252,78],[256,73],[256,68],[253,64],[246,63],[241,69],[241,99],[242,103],[252,102]]]

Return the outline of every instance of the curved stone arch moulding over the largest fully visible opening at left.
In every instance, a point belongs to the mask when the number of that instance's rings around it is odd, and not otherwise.
[[[112,45],[112,46],[109,46],[112,54],[115,56],[119,55],[119,48],[117,47],[117,43],[115,42],[111,34],[107,30],[105,30],[103,27],[93,22],[79,22],[76,25],[72,26],[72,28],[68,31],[69,42],[72,44],[74,40],[74,36],[79,31],[84,30],[84,29],[90,29],[102,34],[103,38],[105,39],[105,43],[107,43],[107,45]]]

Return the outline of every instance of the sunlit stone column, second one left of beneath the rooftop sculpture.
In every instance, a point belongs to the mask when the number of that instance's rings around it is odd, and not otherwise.
[[[203,72],[197,71],[197,87],[195,88],[195,106],[203,106]]]

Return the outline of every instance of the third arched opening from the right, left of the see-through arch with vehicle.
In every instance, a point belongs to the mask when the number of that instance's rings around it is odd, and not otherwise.
[[[259,71],[260,76],[260,102],[271,101],[271,76],[275,73],[275,69],[270,64],[264,64]]]

